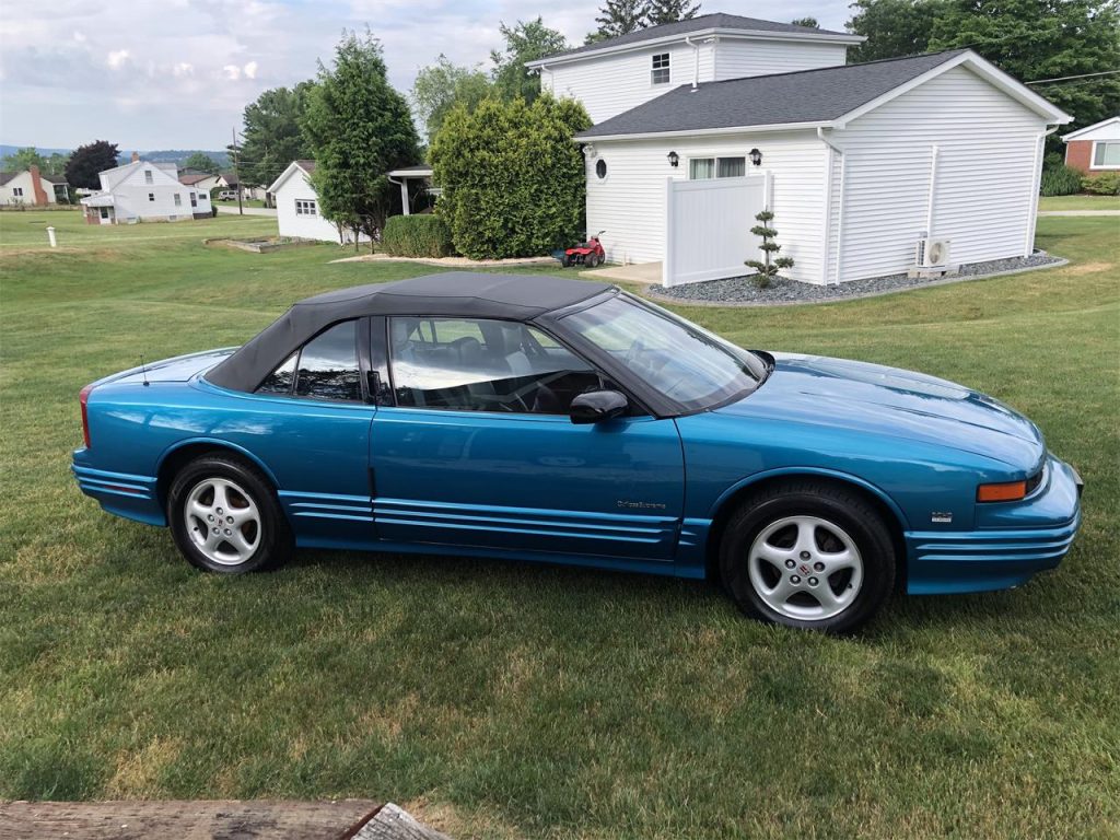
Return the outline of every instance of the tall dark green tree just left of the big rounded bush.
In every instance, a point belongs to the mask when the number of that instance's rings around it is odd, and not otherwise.
[[[389,84],[381,44],[368,30],[344,32],[333,66],[320,63],[301,125],[323,215],[355,241],[372,236],[394,199],[386,174],[416,164],[419,149],[408,102]]]

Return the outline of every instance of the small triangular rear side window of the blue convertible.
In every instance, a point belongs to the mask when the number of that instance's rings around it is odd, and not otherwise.
[[[356,321],[347,320],[320,333],[272,371],[256,392],[361,400],[356,330]]]

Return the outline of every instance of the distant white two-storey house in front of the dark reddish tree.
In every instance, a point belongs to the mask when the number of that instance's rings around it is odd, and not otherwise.
[[[175,164],[132,162],[99,174],[101,190],[82,199],[87,224],[184,222],[211,216],[209,193],[180,184]]]

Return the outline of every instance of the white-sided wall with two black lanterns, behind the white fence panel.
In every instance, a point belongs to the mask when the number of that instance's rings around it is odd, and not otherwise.
[[[788,274],[821,282],[823,272],[824,180],[828,149],[811,131],[734,134],[720,138],[623,140],[595,143],[598,157],[587,161],[587,226],[606,230],[603,245],[612,262],[657,262],[664,256],[665,179],[688,178],[689,158],[763,152],[762,170],[773,175],[773,225],[782,254],[795,261]],[[668,155],[675,151],[680,166]],[[595,174],[607,162],[607,177]],[[762,171],[750,167],[755,172]],[[749,230],[744,239],[754,239]],[[746,271],[746,269],[745,269]]]

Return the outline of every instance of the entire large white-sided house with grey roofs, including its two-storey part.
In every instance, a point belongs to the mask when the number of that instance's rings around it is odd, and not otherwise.
[[[861,40],[704,15],[530,62],[596,122],[576,141],[607,259],[741,276],[763,208],[805,282],[1030,254],[1072,118],[969,49],[846,65]]]

